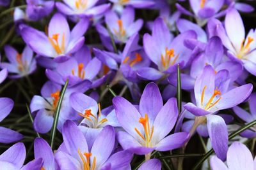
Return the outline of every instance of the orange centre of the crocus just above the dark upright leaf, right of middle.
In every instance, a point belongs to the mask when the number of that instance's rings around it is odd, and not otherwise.
[[[164,67],[164,69],[168,69],[168,67],[175,64],[178,58],[179,58],[179,54],[175,56],[173,48],[171,48],[170,50],[168,50],[168,48],[165,48],[165,54],[164,55],[161,54],[161,64]]]

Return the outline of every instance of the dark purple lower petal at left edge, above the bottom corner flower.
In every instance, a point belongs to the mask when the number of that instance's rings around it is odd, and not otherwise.
[[[20,141],[23,135],[6,127],[0,127],[0,143],[13,143]]]

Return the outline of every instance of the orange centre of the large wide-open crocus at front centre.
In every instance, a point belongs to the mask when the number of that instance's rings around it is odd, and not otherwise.
[[[143,125],[144,135],[135,127],[134,130],[138,133],[138,135],[145,141],[145,146],[150,147],[150,140],[152,138],[154,132],[154,126],[151,127],[148,123],[148,114],[145,114],[145,117],[141,117],[139,120],[140,124]]]

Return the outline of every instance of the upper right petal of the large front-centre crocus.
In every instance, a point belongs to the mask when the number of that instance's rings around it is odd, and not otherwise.
[[[152,103],[152,105],[154,104]],[[172,131],[177,121],[178,114],[179,111],[176,99],[169,99],[154,120],[154,133],[152,139],[158,142]]]

